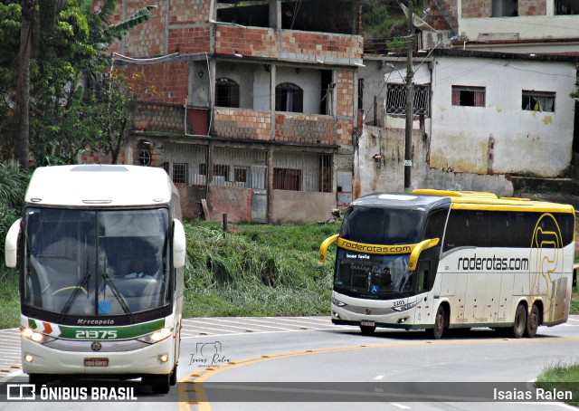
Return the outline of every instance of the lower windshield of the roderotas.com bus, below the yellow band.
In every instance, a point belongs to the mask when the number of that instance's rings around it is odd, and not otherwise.
[[[370,254],[337,249],[334,290],[352,297],[383,300],[413,292],[410,254]]]

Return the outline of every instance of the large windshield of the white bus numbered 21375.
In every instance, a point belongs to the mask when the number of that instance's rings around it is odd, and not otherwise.
[[[25,219],[24,305],[104,317],[170,303],[166,208],[29,207]]]

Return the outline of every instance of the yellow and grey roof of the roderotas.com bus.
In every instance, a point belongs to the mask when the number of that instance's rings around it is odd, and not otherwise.
[[[412,193],[375,193],[352,202],[353,206],[383,206],[431,209],[451,206],[463,210],[517,211],[537,213],[574,213],[574,207],[527,198],[512,198],[477,191],[418,189]]]

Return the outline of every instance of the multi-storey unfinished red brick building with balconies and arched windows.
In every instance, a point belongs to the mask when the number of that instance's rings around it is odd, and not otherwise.
[[[271,223],[349,203],[359,2],[156,3],[113,50],[157,89],[139,96],[125,162],[165,167],[188,216],[203,199],[213,219]],[[148,4],[119,0],[118,17]]]

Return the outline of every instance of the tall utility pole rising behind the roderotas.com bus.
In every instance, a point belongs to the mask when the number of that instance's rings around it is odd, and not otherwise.
[[[413,0],[408,0],[408,51],[406,54],[406,127],[404,129],[404,191],[410,191],[413,167]]]

